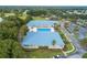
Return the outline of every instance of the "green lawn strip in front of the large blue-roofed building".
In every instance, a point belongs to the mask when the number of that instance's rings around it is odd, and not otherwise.
[[[55,55],[63,55],[61,50],[37,48],[28,53],[31,58],[52,58]]]

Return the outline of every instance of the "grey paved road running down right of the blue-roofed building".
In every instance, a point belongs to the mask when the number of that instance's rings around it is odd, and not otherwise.
[[[76,53],[68,56],[68,58],[81,58],[83,54],[86,53],[86,51],[79,45],[79,41],[74,37],[73,34],[70,34],[66,29],[62,28],[63,32],[69,36],[70,42],[76,47]]]

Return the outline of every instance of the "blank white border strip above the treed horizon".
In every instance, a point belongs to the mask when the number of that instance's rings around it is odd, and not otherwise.
[[[0,0],[0,6],[87,6],[87,0]]]

